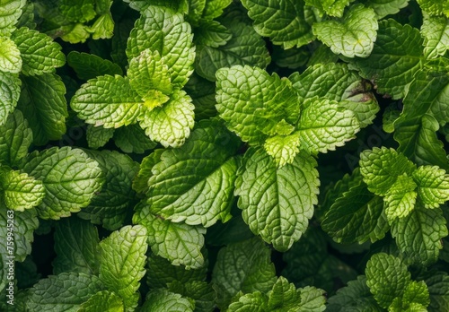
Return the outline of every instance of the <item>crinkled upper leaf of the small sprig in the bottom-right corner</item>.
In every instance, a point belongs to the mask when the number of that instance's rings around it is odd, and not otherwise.
[[[366,284],[382,308],[388,308],[393,300],[401,297],[410,282],[407,266],[395,256],[375,254],[366,264]]]

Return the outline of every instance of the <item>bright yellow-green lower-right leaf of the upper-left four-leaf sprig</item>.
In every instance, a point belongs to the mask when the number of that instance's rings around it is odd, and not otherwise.
[[[139,123],[152,141],[163,146],[179,147],[194,125],[195,106],[185,91],[174,91],[163,107],[146,110]]]

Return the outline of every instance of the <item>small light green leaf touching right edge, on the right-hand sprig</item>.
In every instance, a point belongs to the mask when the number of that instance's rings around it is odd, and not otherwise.
[[[418,195],[426,208],[438,208],[449,200],[449,175],[437,166],[421,166],[413,172]]]

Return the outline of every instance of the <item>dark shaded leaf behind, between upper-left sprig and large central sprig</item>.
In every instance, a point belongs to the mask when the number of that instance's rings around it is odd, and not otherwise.
[[[265,41],[258,33],[244,22],[228,22],[225,27],[231,32],[232,38],[223,46],[197,47],[195,71],[211,82],[216,81],[216,71],[233,65],[253,65],[265,68],[271,58]]]

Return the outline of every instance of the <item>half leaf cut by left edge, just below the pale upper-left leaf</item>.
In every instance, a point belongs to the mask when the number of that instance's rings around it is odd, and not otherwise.
[[[8,114],[13,112],[21,95],[21,80],[16,74],[0,72],[0,126],[4,125]],[[1,140],[1,139],[0,139]]]

